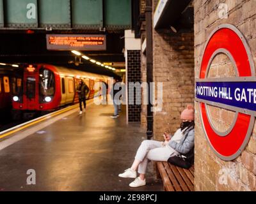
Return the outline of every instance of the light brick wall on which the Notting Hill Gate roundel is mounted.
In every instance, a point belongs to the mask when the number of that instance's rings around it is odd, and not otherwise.
[[[225,3],[228,18],[220,18],[219,4]],[[195,7],[195,77],[198,78],[200,61],[205,43],[218,25],[233,24],[244,34],[256,59],[256,1],[223,0],[194,1]],[[234,68],[224,54],[217,55],[212,62],[209,77],[233,77]],[[196,108],[195,128],[195,190],[196,191],[256,191],[256,126],[248,146],[234,161],[225,162],[219,159],[210,149],[205,139],[200,120],[198,103]],[[234,119],[234,112],[209,106],[209,115],[215,128],[225,131]],[[219,174],[220,173],[220,174]],[[226,182],[220,182],[225,179]],[[221,178],[222,177],[222,178]]]

